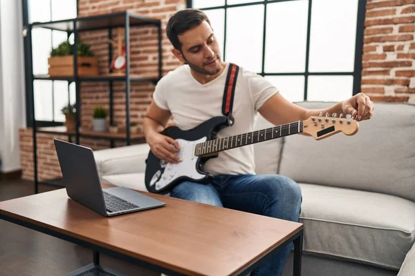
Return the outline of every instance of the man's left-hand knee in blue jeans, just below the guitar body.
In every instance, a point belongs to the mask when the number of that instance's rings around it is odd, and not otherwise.
[[[222,206],[219,195],[210,184],[185,181],[178,184],[178,186],[172,190],[170,196],[213,206]]]

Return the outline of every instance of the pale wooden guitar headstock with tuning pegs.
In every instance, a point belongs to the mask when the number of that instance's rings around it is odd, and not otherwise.
[[[338,132],[343,132],[345,135],[355,135],[358,130],[359,124],[356,118],[351,115],[343,117],[342,114],[337,117],[335,113],[329,117],[329,113],[322,116],[322,112],[320,112],[319,116],[311,116],[303,124],[303,132],[313,136],[316,140],[330,137]]]

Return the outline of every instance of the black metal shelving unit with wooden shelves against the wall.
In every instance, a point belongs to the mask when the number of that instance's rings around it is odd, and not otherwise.
[[[27,7],[26,7],[27,8]],[[24,7],[25,9],[25,7]],[[28,23],[28,19],[24,20],[25,27],[27,29],[27,35],[24,38],[25,42],[25,61],[26,61],[26,89],[28,90],[28,104],[31,106],[30,110],[30,123],[33,127],[33,160],[35,166],[35,193],[38,191],[37,184],[38,173],[37,173],[37,133],[47,133],[50,135],[67,135],[68,140],[72,142],[75,138],[75,144],[80,144],[80,137],[89,137],[94,139],[107,139],[111,141],[111,148],[114,146],[114,141],[126,141],[127,146],[131,144],[131,141],[140,141],[145,142],[145,137],[142,134],[131,133],[129,128],[130,126],[130,90],[131,82],[151,82],[157,83],[160,80],[162,75],[162,43],[161,43],[161,23],[158,19],[149,19],[142,17],[138,14],[133,14],[131,12],[118,12],[114,14],[102,14],[93,17],[77,17],[73,19],[59,20],[59,21],[50,21],[50,22],[37,22],[37,23]],[[130,28],[132,26],[155,26],[157,28],[156,36],[158,37],[158,77],[142,77],[140,75],[131,74],[130,68]],[[64,76],[64,77],[51,77],[50,75],[33,75],[33,51],[32,51],[32,30],[34,28],[48,28],[51,30],[61,30],[68,33],[68,37],[71,33],[74,36],[73,47],[73,75]],[[113,28],[124,28],[124,43],[125,43],[125,52],[127,53],[126,58],[126,67],[125,72],[114,73],[109,72],[105,75],[96,75],[96,76],[79,76],[77,75],[77,43],[80,32],[91,31],[91,30],[104,30],[108,31],[108,39],[112,38],[112,29]],[[111,43],[108,46],[109,52],[109,63],[111,63],[111,55],[113,53],[113,48]],[[110,64],[109,64],[110,66]],[[68,132],[64,129],[64,126],[57,126],[57,123],[51,124],[53,126],[47,126],[42,124],[40,121],[35,120],[35,97],[33,90],[33,82],[35,80],[50,80],[50,81],[69,81],[75,82],[75,95],[76,95],[76,114],[75,114],[75,123],[76,130],[73,132]],[[93,132],[91,130],[82,129],[80,126],[80,110],[81,106],[81,97],[80,97],[80,83],[86,81],[108,81],[109,85],[109,123],[113,123],[113,86],[115,81],[124,81],[125,82],[125,110],[126,110],[126,120],[125,120],[125,129],[124,133],[109,133],[109,132]],[[69,97],[69,96],[68,96]],[[42,128],[39,128],[42,126]],[[59,185],[59,180],[53,179],[51,181],[42,181],[42,183],[49,182],[50,184]]]

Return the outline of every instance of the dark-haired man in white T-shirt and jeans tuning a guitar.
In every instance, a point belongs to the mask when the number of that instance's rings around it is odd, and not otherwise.
[[[160,79],[144,121],[144,132],[154,155],[169,163],[179,161],[178,143],[159,132],[173,116],[182,130],[189,130],[214,116],[221,116],[228,63],[221,61],[219,44],[210,21],[200,10],[176,12],[167,23],[167,37],[174,56],[185,65]],[[373,103],[360,93],[322,110],[307,110],[284,99],[264,77],[240,68],[234,92],[234,124],[217,137],[229,137],[254,128],[257,112],[275,125],[305,120],[329,112],[370,119]],[[225,150],[209,159],[204,170],[214,175],[211,184],[182,182],[170,195],[204,204],[298,221],[302,201],[299,185],[282,175],[255,175],[252,144]],[[252,271],[251,275],[281,275],[291,245]]]

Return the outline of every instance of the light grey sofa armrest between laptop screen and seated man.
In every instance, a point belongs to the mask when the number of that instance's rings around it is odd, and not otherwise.
[[[145,172],[145,160],[149,150],[148,144],[95,150],[93,155],[100,179],[104,175]]]

